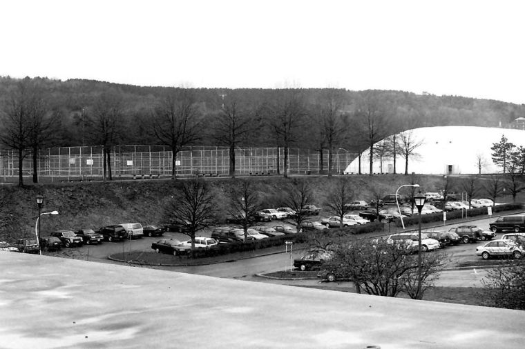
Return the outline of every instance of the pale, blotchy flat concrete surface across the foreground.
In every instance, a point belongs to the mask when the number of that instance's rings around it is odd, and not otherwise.
[[[0,252],[1,348],[523,348],[525,312]]]

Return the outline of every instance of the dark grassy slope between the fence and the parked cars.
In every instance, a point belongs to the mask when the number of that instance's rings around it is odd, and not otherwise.
[[[341,179],[352,183],[355,199],[368,199],[368,189],[386,186],[390,192],[405,183],[410,176],[381,175],[369,177],[249,177],[253,181],[263,206],[278,207],[283,204],[283,189],[294,181],[308,181],[314,190],[314,203],[325,208],[330,190]],[[204,179],[216,195],[219,208],[225,210],[227,192],[237,186],[239,179]],[[421,184],[421,192],[435,191],[439,188],[441,176],[418,175],[416,182]],[[58,229],[99,228],[108,224],[136,221],[139,223],[163,223],[164,206],[184,180],[147,179],[136,181],[57,183],[26,188],[0,186],[0,241],[12,241],[21,236],[32,236],[37,218],[35,197],[46,197],[43,212],[58,210],[57,216],[44,216],[41,220],[42,235]],[[408,194],[408,188],[403,188]],[[323,210],[322,214],[330,212]]]

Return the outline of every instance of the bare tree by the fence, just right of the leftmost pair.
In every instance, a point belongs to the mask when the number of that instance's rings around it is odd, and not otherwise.
[[[91,137],[97,143],[102,143],[104,181],[106,178],[112,180],[111,150],[120,138],[119,128],[122,125],[123,116],[124,101],[122,94],[115,90],[106,90],[99,94],[86,120]]]

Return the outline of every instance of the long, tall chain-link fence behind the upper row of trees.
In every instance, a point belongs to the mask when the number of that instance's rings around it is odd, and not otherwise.
[[[340,148],[332,153],[332,172],[342,173],[356,157]],[[113,177],[170,177],[172,152],[163,146],[115,146],[110,163]],[[284,148],[236,149],[236,174],[272,175],[284,170]],[[229,150],[226,147],[189,147],[175,158],[177,176],[229,175]],[[321,166],[323,163],[323,166]],[[18,154],[15,150],[0,151],[0,175],[17,177]],[[104,175],[102,146],[47,148],[37,158],[39,177],[92,179]],[[320,152],[290,148],[288,171],[291,175],[326,173],[328,151]],[[32,175],[32,154],[26,153],[23,175]],[[357,171],[351,171],[357,172]]]

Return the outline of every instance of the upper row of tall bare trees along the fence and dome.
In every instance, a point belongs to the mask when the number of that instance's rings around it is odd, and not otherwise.
[[[227,94],[220,94],[210,101],[198,100],[197,95],[195,90],[187,88],[166,89],[162,96],[153,99],[153,103],[144,106],[142,117],[136,117],[137,111],[130,107],[133,104],[130,97],[119,88],[109,87],[82,107],[75,127],[82,129],[78,132],[82,134],[82,143],[87,139],[90,144],[102,145],[104,179],[109,180],[112,179],[111,149],[128,139],[126,132],[131,127],[140,129],[144,139],[171,148],[173,177],[178,152],[185,146],[195,144],[228,146],[231,177],[236,175],[235,149],[239,146],[283,148],[285,168],[282,175],[285,177],[288,175],[287,158],[292,146],[314,148],[321,157],[323,150],[328,150],[328,175],[333,172],[334,150],[344,148],[347,152],[361,154],[368,148],[372,154],[372,169],[377,157],[382,161],[383,157],[392,156],[374,150],[374,147],[379,147],[375,146],[376,142],[403,129],[403,125],[394,121],[402,119],[397,106],[388,102],[388,95],[381,97],[374,91],[363,91],[356,100],[349,100],[347,92],[338,89],[316,93],[299,88],[251,93],[229,90]],[[46,88],[39,79],[22,79],[6,95],[0,96],[3,121],[0,124],[0,142],[19,154],[21,186],[21,160],[33,154],[33,181],[37,182],[38,150],[60,143],[59,138],[70,131],[69,125],[64,123],[66,112],[60,103],[54,91]],[[400,142],[392,143],[389,154],[393,154],[394,162],[397,154],[405,157],[405,172],[408,172],[408,157],[414,154],[418,143],[410,138],[411,134],[405,135],[406,138],[401,135]],[[135,143],[142,143],[142,140],[137,139]]]

